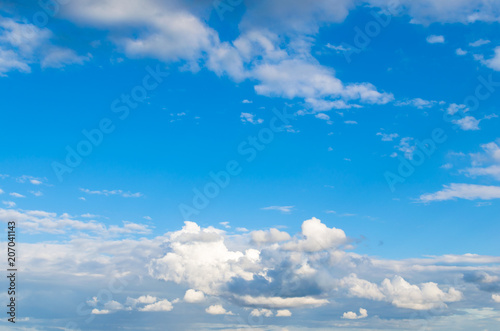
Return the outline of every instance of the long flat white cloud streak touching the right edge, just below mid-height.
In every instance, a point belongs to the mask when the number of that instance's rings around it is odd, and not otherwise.
[[[500,186],[486,186],[475,184],[444,185],[443,190],[435,193],[426,193],[420,196],[421,202],[445,201],[455,199],[491,200],[500,199]]]

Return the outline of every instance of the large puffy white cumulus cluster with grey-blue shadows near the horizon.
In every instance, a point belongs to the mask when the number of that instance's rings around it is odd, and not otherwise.
[[[277,229],[229,237],[222,230],[185,222],[182,230],[165,238],[167,253],[150,262],[151,276],[190,287],[185,302],[203,302],[206,293],[255,307],[253,316],[271,316],[270,309],[323,306],[333,293],[343,291],[414,310],[462,299],[458,290],[445,291],[434,282],[412,285],[395,275],[377,285],[358,278],[352,271],[362,271],[364,265],[373,269],[372,262],[343,251],[348,241],[344,231],[314,217],[304,221],[301,232],[293,237]],[[239,250],[229,248],[235,246],[232,240],[238,241]],[[220,308],[207,309],[223,314]]]

